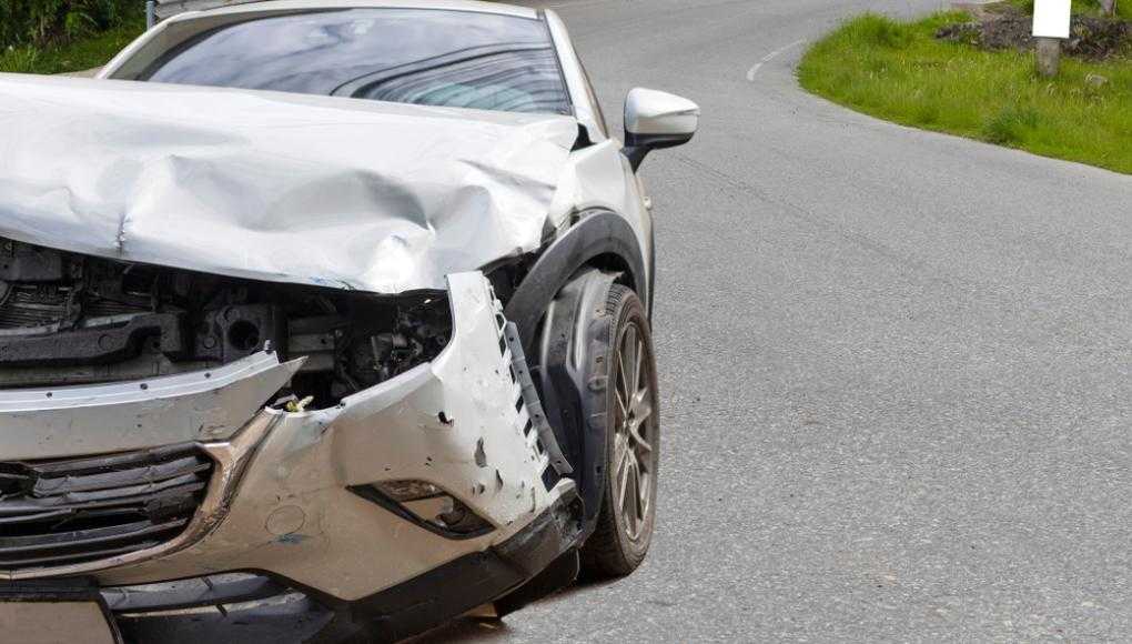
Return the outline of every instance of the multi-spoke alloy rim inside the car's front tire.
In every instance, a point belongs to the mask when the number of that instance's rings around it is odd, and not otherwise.
[[[621,335],[617,360],[614,499],[628,538],[636,541],[652,510],[657,448],[652,367],[636,324],[629,324]]]

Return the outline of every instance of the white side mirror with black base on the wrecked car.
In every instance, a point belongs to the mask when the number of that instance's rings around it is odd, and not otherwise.
[[[688,143],[698,127],[700,105],[637,87],[625,100],[625,156],[636,171],[650,152]]]

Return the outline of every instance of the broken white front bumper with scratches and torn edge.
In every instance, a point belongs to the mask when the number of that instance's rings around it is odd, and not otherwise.
[[[437,570],[513,551],[537,532],[537,556],[509,565],[521,575],[481,586],[501,593],[533,576],[573,546],[576,530],[563,509],[573,483],[547,475],[548,446],[532,428],[490,284],[470,273],[449,276],[448,286],[453,335],[445,351],[327,410],[265,407],[300,367],[269,352],[145,383],[0,393],[5,461],[181,444],[214,461],[199,507],[175,536],[79,563],[10,567],[0,578],[82,575],[131,587],[257,570],[323,606],[380,612],[393,604],[374,598],[406,584],[443,586]],[[351,491],[406,480],[443,489],[490,530],[454,539]],[[478,603],[495,599],[465,594]]]

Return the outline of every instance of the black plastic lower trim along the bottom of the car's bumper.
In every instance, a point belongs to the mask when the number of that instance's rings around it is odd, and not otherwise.
[[[337,600],[257,573],[101,592],[130,643],[398,642],[526,587],[532,577],[576,548],[581,500],[571,482],[559,484],[566,488],[559,500],[507,541],[359,601]]]

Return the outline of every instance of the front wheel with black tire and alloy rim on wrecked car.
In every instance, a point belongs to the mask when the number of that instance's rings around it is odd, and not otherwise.
[[[599,376],[591,383],[606,384],[590,389],[603,396],[593,409],[606,410],[606,475],[597,529],[582,547],[582,574],[591,579],[629,575],[644,560],[657,521],[660,464],[657,363],[644,304],[615,284],[595,314],[608,328],[590,357]]]

